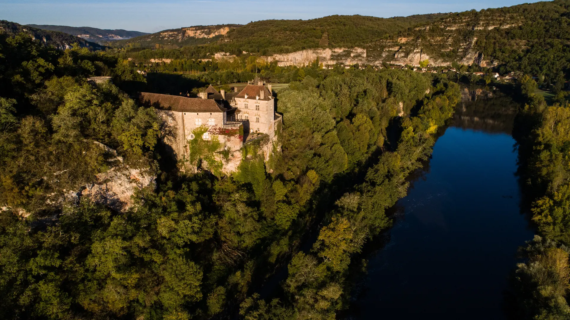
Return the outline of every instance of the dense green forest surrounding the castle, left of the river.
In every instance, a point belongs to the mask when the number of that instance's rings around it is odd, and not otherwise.
[[[460,96],[445,76],[296,69],[278,96],[281,150],[264,162],[247,145],[222,176],[165,169],[156,113],[124,93],[146,81],[128,61],[0,34],[0,71],[5,319],[334,317],[351,260],[390,227],[385,209]],[[54,201],[118,165],[94,141],[157,177],[127,211]],[[287,280],[268,288],[276,270]]]

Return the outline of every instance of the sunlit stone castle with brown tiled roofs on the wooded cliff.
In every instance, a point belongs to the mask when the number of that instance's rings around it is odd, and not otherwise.
[[[188,140],[197,128],[207,129],[203,140],[217,137],[221,150],[237,151],[243,143],[267,135],[275,137],[275,128],[282,117],[275,113],[271,85],[257,77],[238,91],[219,92],[210,85],[198,98],[142,92],[141,104],[156,108],[162,118],[162,140],[173,149],[177,159],[188,155]],[[241,156],[239,157],[241,160]]]

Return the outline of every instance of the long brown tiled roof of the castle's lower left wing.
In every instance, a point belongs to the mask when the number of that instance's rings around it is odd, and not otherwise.
[[[176,112],[224,112],[226,108],[215,100],[187,98],[182,96],[161,95],[160,93],[141,92],[139,101],[157,109]]]

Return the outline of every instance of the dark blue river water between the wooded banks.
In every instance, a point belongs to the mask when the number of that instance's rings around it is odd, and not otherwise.
[[[515,110],[505,96],[458,106],[368,257],[348,318],[506,319],[516,249],[534,235],[520,209]]]

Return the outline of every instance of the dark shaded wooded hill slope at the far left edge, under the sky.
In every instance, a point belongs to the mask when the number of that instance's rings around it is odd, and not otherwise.
[[[61,50],[71,48],[71,45],[74,43],[79,43],[80,46],[91,48],[92,50],[101,50],[104,48],[101,44],[90,42],[64,32],[42,30],[31,26],[23,26],[15,22],[0,20],[0,33],[17,35],[22,32],[46,45],[51,45]]]

